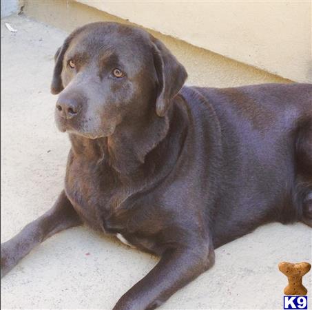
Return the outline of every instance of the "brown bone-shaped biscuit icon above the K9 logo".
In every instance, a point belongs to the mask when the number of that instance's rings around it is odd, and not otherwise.
[[[306,295],[308,290],[302,285],[302,277],[311,269],[309,262],[299,262],[298,264],[280,262],[278,269],[288,278],[288,285],[284,288],[285,295]]]

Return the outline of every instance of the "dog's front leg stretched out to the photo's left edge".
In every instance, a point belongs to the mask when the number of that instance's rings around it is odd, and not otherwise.
[[[65,192],[43,216],[26,225],[16,236],[1,244],[1,277],[34,247],[58,231],[81,224]]]

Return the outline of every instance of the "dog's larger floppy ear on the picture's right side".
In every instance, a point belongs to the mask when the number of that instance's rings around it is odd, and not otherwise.
[[[165,116],[171,100],[178,94],[187,79],[187,72],[176,57],[158,39],[154,43],[154,65],[158,78],[156,113]]]

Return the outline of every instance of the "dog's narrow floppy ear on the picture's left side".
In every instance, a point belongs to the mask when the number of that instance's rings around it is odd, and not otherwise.
[[[70,45],[70,40],[71,37],[68,37],[61,46],[61,48],[59,48],[54,55],[55,65],[51,84],[52,94],[59,94],[64,89],[61,73],[63,70],[64,54],[68,48],[68,45]]]

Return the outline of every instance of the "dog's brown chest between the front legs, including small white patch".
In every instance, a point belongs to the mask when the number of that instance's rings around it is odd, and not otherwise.
[[[95,166],[79,161],[67,164],[65,192],[86,225],[114,234],[126,245],[159,253],[160,208],[151,205],[148,194],[139,189],[116,183]]]

